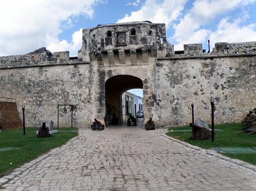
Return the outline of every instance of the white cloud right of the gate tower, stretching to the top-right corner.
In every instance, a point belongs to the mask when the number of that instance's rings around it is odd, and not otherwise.
[[[175,33],[169,40],[177,42],[177,50],[182,50],[183,44],[202,43],[212,34],[210,30],[203,29],[203,25],[212,22],[219,15],[253,2],[256,0],[195,0],[193,7],[179,24],[174,25]],[[243,19],[248,19],[248,15],[245,14]],[[210,39],[211,43],[215,42]]]

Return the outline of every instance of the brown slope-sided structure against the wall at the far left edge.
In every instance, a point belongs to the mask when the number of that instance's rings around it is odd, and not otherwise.
[[[15,99],[0,97],[0,127],[2,130],[22,127]]]

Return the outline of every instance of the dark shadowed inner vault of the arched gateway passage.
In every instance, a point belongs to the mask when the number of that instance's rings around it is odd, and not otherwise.
[[[130,75],[118,75],[109,78],[105,83],[105,123],[111,125],[113,116],[117,119],[117,124],[121,125],[124,122],[126,110],[123,109],[122,95],[129,89],[143,89],[143,82],[140,78]],[[126,103],[126,102],[125,102]],[[133,102],[133,109],[134,109]],[[136,111],[137,112],[137,111]],[[135,111],[134,111],[135,113]]]

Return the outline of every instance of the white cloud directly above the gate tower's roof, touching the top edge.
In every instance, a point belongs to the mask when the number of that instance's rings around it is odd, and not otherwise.
[[[124,18],[119,19],[118,23],[150,20],[153,23],[169,24],[178,18],[184,5],[188,0],[146,0],[138,11],[132,11],[130,15],[126,14]]]

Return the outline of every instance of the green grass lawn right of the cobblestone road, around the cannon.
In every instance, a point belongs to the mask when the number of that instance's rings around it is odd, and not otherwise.
[[[209,126],[210,127],[210,126]],[[191,145],[199,146],[201,148],[212,147],[255,147],[256,146],[256,134],[246,135],[246,133],[236,134],[242,130],[241,124],[220,124],[215,125],[215,129],[222,129],[223,131],[215,132],[215,141],[209,140],[190,140],[190,132],[169,132],[168,136],[174,137],[178,140],[185,141]],[[184,127],[170,127],[168,130],[177,129],[191,129],[189,126]],[[240,159],[245,162],[256,165],[256,153],[224,153],[223,155],[234,159]]]

